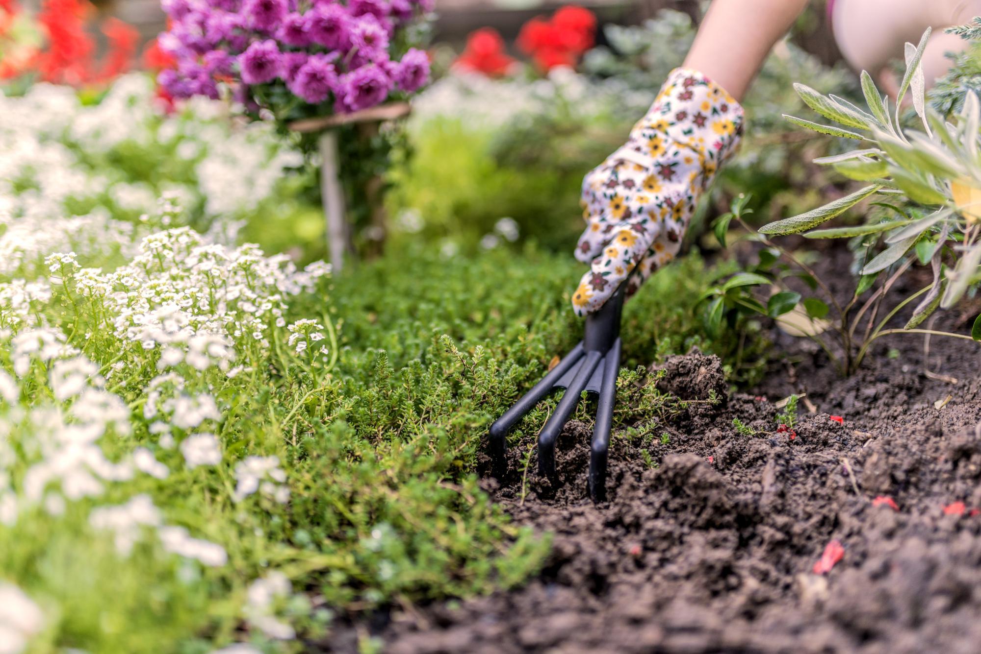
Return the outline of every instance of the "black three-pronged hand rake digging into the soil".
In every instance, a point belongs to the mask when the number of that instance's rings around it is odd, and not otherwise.
[[[598,394],[596,425],[590,453],[589,491],[594,501],[606,498],[606,459],[609,452],[613,405],[616,402],[616,378],[620,370],[620,316],[623,313],[624,288],[620,288],[595,313],[587,316],[583,340],[565,355],[514,406],[490,425],[490,455],[498,469],[506,469],[504,453],[507,433],[531,411],[542,397],[554,389],[565,389],[565,395],[539,434],[539,474],[555,475],[555,441],[572,415],[583,391]]]

